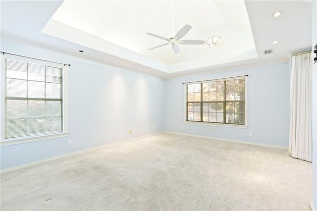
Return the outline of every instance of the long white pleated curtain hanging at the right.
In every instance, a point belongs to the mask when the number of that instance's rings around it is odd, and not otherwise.
[[[311,53],[292,56],[291,124],[288,152],[312,161],[312,58]]]

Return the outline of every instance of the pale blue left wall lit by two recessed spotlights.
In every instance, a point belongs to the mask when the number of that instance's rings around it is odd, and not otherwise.
[[[163,79],[7,41],[1,51],[71,64],[68,137],[1,147],[1,169],[164,130]]]

